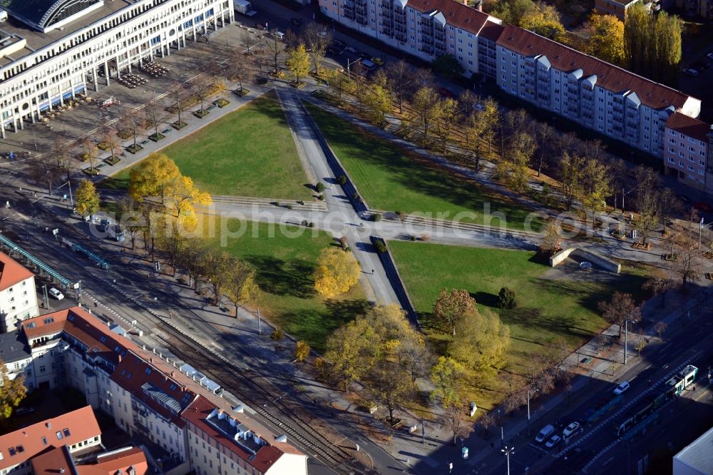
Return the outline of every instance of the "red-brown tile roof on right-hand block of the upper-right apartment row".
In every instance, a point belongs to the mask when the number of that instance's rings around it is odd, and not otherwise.
[[[584,77],[596,74],[597,86],[612,92],[634,91],[640,101],[650,108],[662,109],[674,106],[679,109],[689,98],[680,91],[642,78],[517,26],[506,25],[498,39],[498,45],[523,56],[543,54],[547,56],[550,64],[560,71],[569,72],[581,68]]]

